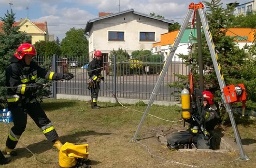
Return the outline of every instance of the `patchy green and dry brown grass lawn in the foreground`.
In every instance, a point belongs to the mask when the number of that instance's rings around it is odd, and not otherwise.
[[[245,148],[250,161],[236,160],[239,153],[207,153],[207,152],[177,152],[159,145],[155,134],[160,130],[168,130],[183,125],[183,122],[166,122],[152,116],[147,116],[140,130],[138,138],[142,143],[130,143],[134,136],[143,113],[126,109],[118,104],[99,103],[103,108],[91,109],[90,103],[76,100],[46,99],[42,106],[52,121],[60,140],[74,144],[89,144],[89,158],[91,166],[102,167],[187,167],[183,164],[202,167],[250,167],[256,165],[256,148]],[[144,112],[146,106],[126,105],[131,109]],[[36,109],[35,109],[36,110]],[[167,120],[180,120],[181,108],[178,106],[153,105],[150,114]],[[11,126],[12,124],[10,124]],[[0,149],[3,150],[8,135],[8,127],[0,123],[1,139]],[[223,127],[225,136],[234,137],[232,127]],[[248,120],[238,124],[242,142],[251,140],[256,142],[256,121]],[[29,148],[39,158],[33,157],[24,147]],[[246,147],[246,146],[245,146]],[[247,150],[248,149],[248,150]],[[28,117],[27,128],[21,136],[17,151],[19,155],[13,157],[7,167],[59,167],[58,151],[52,148],[52,144],[46,140],[40,129]],[[150,155],[150,153],[152,155]],[[44,161],[47,160],[47,161]],[[49,162],[50,161],[50,162]],[[175,162],[183,163],[177,164]],[[207,165],[210,164],[210,165]]]

